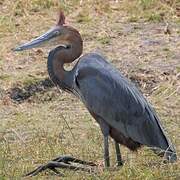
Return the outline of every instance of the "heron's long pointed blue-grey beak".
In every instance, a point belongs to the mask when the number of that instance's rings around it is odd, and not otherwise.
[[[52,39],[56,39],[56,37],[59,36],[60,33],[61,33],[60,27],[56,26],[56,27],[50,29],[49,31],[47,31],[46,33],[44,33],[43,35],[37,37],[36,39],[34,39],[30,42],[27,42],[25,44],[22,44],[12,50],[13,51],[23,51],[23,50],[42,46],[46,42],[49,42]]]

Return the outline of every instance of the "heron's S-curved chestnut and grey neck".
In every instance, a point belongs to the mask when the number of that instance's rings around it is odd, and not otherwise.
[[[71,63],[77,59],[83,48],[80,34],[70,28],[70,36],[67,39],[68,48],[59,46],[53,49],[48,56],[48,72],[51,80],[63,90],[73,91],[73,70],[66,71],[64,63]]]

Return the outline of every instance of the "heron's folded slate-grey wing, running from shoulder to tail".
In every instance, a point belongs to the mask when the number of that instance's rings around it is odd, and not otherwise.
[[[91,61],[89,58],[84,57],[76,76],[86,107],[124,136],[167,149],[169,142],[160,122],[138,89],[103,58],[93,56]]]

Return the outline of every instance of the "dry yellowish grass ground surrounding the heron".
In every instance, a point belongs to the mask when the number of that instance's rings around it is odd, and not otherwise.
[[[136,82],[157,110],[180,153],[180,18],[178,0],[58,1],[0,0],[0,179],[20,177],[62,154],[103,162],[99,127],[80,101],[55,87],[31,93],[48,77],[48,49],[13,53],[11,48],[51,27],[59,7],[80,30],[84,53],[100,50]],[[170,34],[165,33],[169,23]],[[12,88],[30,96],[16,102]],[[23,95],[24,95],[23,94]],[[68,125],[67,125],[68,123]],[[97,174],[64,171],[64,179],[179,179],[179,161],[162,159],[143,148],[122,147],[125,165]],[[58,179],[51,173],[34,179]],[[62,179],[62,178],[59,178]]]

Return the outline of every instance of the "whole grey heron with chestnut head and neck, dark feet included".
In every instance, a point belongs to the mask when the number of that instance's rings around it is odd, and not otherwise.
[[[176,161],[176,151],[164,133],[160,120],[140,91],[106,59],[97,53],[81,56],[83,41],[79,32],[65,25],[61,12],[58,23],[40,37],[25,43],[14,51],[53,44],[56,48],[48,56],[48,73],[51,80],[62,90],[78,97],[100,125],[104,136],[105,167],[110,166],[108,137],[115,142],[117,164],[122,165],[119,144],[136,151],[142,145],[162,150],[165,159]],[[81,57],[80,57],[81,56]],[[80,57],[80,58],[79,58]],[[64,69],[65,63],[79,58],[72,70]],[[47,168],[76,169],[70,162],[94,166],[69,156],[52,160],[28,175],[36,175]],[[86,170],[85,167],[77,169]]]

